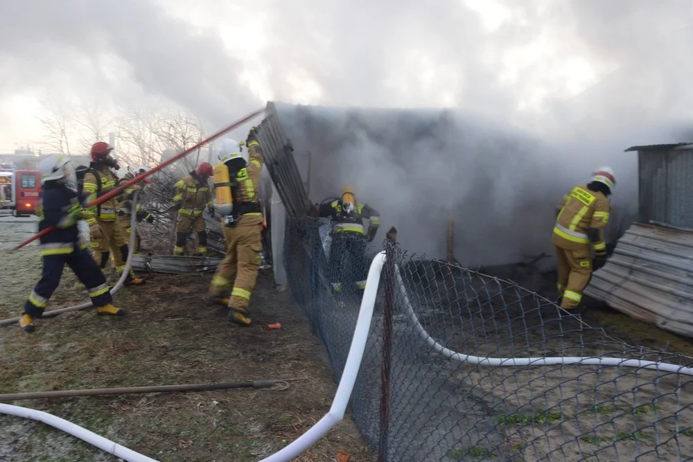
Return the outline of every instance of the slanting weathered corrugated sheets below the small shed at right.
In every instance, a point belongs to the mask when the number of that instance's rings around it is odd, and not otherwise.
[[[634,223],[585,294],[693,337],[693,232]]]

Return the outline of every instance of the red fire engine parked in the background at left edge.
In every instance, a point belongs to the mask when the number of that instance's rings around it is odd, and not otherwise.
[[[0,209],[15,217],[32,215],[41,197],[37,170],[17,170],[14,163],[0,163]]]

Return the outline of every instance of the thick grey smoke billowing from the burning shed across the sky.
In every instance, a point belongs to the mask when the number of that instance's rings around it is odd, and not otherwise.
[[[117,103],[161,96],[215,128],[263,100],[410,108],[281,116],[312,153],[311,199],[352,184],[406,247],[439,256],[451,211],[468,265],[550,251],[557,200],[603,164],[632,216],[624,149],[691,133],[687,0],[188,3],[4,2],[0,97],[57,80]],[[505,8],[495,24],[491,4]]]

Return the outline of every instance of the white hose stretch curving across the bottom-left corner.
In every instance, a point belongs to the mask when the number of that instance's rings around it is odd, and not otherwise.
[[[156,459],[151,459],[150,457],[139,454],[139,452],[134,452],[125,446],[121,446],[114,441],[99,436],[94,432],[89,432],[89,430],[80,427],[79,425],[73,424],[67,420],[64,420],[58,416],[53,416],[44,411],[37,411],[36,409],[28,409],[21,406],[5,405],[0,403],[0,413],[9,414],[10,416],[30,418],[33,420],[38,420],[39,422],[45,423],[46,425],[51,425],[63,432],[69,433],[72,436],[80,438],[82,441],[98,447],[100,450],[109,452],[116,457],[125,459],[128,462],[157,462]]]

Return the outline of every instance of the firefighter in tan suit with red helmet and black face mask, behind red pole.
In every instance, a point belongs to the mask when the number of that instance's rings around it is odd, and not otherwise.
[[[116,187],[117,179],[110,169],[117,168],[118,163],[112,156],[112,151],[113,148],[103,141],[97,141],[91,146],[91,163],[82,185],[85,195],[89,195],[87,202],[93,202]],[[112,197],[103,204],[90,208],[87,211],[87,223],[91,232],[91,249],[101,270],[105,272],[109,254],[112,253],[116,272],[123,274],[129,249],[127,236],[116,226],[117,205],[116,197]],[[131,268],[125,278],[125,285],[144,283]]]

